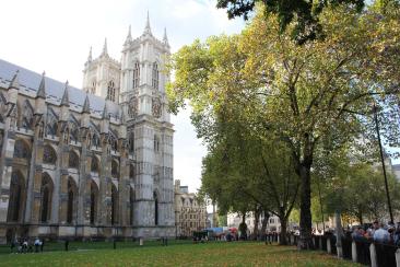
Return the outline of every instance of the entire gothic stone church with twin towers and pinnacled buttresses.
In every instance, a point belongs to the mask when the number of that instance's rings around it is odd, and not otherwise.
[[[168,56],[148,18],[83,90],[0,60],[0,243],[175,235]]]

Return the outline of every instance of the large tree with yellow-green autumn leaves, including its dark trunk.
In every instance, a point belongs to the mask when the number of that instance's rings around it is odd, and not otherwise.
[[[298,46],[291,37],[295,23],[282,32],[277,15],[266,19],[262,8],[242,34],[196,40],[173,56],[172,111],[189,100],[198,136],[211,148],[219,141],[216,125],[228,118],[219,114],[232,109],[254,136],[286,143],[301,177],[302,248],[313,246],[316,151],[334,151],[366,132],[361,114],[372,102],[386,107],[384,135],[398,141],[400,12],[388,10],[326,8],[318,16],[326,38]]]

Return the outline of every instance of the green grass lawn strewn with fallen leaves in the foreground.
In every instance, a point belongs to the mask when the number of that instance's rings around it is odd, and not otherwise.
[[[252,242],[0,255],[0,266],[358,266],[322,252]]]

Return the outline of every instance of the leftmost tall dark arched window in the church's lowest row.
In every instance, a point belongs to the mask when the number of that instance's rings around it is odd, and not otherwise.
[[[11,174],[10,199],[7,221],[20,222],[24,212],[25,202],[25,182],[20,172]]]

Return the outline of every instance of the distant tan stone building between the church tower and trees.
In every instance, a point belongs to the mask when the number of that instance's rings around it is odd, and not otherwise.
[[[179,179],[175,181],[175,219],[177,236],[189,237],[207,228],[207,206],[199,204],[187,186],[180,186]]]

